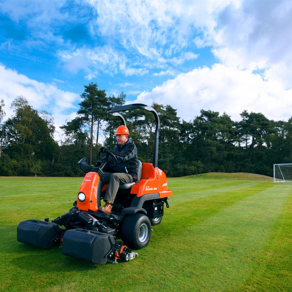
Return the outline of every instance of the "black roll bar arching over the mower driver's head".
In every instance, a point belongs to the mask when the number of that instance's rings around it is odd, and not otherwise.
[[[153,166],[154,168],[157,168],[157,159],[158,159],[158,142],[159,142],[159,117],[157,111],[148,105],[144,105],[142,103],[133,103],[131,105],[122,105],[119,107],[112,107],[109,109],[107,112],[108,114],[113,114],[117,112],[124,112],[126,110],[131,110],[131,109],[146,109],[149,112],[152,112],[152,114],[155,117],[155,122],[156,122],[156,127],[155,127],[155,132],[154,132],[154,147],[153,147]],[[121,115],[113,114],[114,116],[117,116],[121,119]],[[122,117],[123,118],[123,117]],[[124,120],[124,118],[123,118]],[[122,120],[121,120],[122,121]],[[126,126],[126,122],[124,120],[124,126]]]

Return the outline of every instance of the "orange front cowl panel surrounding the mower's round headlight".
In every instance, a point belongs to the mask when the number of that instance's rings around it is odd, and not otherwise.
[[[77,208],[83,211],[97,211],[97,189],[99,183],[99,175],[96,172],[86,173],[84,180],[80,186],[79,193],[85,194],[85,201],[80,202],[77,199]]]

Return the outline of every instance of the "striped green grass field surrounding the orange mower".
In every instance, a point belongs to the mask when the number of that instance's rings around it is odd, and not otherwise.
[[[245,173],[169,178],[170,208],[128,263],[16,240],[67,212],[82,178],[0,177],[0,291],[292,291],[292,184]]]

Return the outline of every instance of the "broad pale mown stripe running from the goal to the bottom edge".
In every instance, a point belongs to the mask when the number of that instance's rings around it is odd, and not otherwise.
[[[276,185],[256,192],[185,228],[180,236],[168,238],[172,245],[167,253],[172,256],[174,266],[165,273],[179,270],[183,274],[171,285],[166,282],[163,288],[168,291],[175,291],[173,287],[177,286],[185,291],[238,291],[272,236],[290,191],[291,186]],[[175,251],[180,251],[176,263],[173,262]]]

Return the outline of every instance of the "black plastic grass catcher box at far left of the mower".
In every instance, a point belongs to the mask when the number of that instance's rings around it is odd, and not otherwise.
[[[22,221],[17,227],[17,240],[42,248],[52,247],[61,230],[58,224],[31,219]]]

